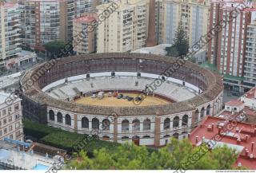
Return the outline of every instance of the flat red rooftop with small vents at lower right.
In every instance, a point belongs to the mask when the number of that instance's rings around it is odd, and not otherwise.
[[[214,138],[218,135],[218,124],[219,123],[226,124],[224,128],[222,128],[222,132],[230,132],[231,136],[222,135],[222,140]],[[234,144],[238,146],[242,146],[242,151],[238,155],[238,159],[235,163],[235,167],[238,167],[238,163],[242,163],[242,166],[248,167],[249,169],[256,169],[256,124],[247,124],[242,122],[237,122],[235,126],[232,128],[229,127],[231,121],[227,121],[222,118],[206,116],[206,118],[202,121],[201,125],[194,129],[190,134],[190,141],[192,144],[196,145],[202,140],[204,136],[207,140],[214,140],[218,142],[222,142],[224,144]],[[229,124],[229,126],[227,126]],[[210,131],[210,128],[214,127],[213,130]],[[209,129],[208,129],[209,128]],[[223,130],[224,129],[224,130]],[[226,130],[229,129],[229,130]],[[196,136],[198,136],[198,143],[196,142]],[[238,136],[241,139],[240,144],[238,144]],[[246,140],[247,138],[247,140]],[[254,142],[253,151],[251,150],[252,142]],[[248,149],[249,153],[246,155],[246,149]],[[253,154],[253,159],[250,159],[250,154]]]

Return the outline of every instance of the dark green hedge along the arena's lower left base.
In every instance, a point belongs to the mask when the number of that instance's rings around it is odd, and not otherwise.
[[[106,147],[109,151],[115,151],[118,143],[89,138],[86,135],[75,132],[66,132],[59,128],[52,128],[45,124],[38,124],[36,122],[24,119],[24,132],[26,136],[37,138],[42,144],[58,147],[67,151],[75,151],[75,147],[83,147],[87,152],[98,150]],[[86,142],[83,142],[86,141]]]

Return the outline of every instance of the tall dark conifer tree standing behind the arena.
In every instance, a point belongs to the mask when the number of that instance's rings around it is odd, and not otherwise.
[[[186,55],[189,51],[189,39],[186,35],[186,31],[182,26],[182,22],[179,22],[178,29],[176,30],[174,37],[174,45],[167,47],[167,56],[181,57]]]

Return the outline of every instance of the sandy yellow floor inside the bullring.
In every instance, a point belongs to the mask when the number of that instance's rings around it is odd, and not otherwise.
[[[137,97],[138,93],[122,93],[124,96],[132,96],[132,97]],[[90,98],[88,97],[83,97],[79,100],[75,101],[76,103],[79,104],[90,104],[90,105],[98,105],[98,106],[122,106],[122,107],[129,107],[129,106],[135,106],[134,101],[128,101],[127,99],[117,99],[113,96],[107,96],[107,93],[105,93],[105,96],[103,99],[98,99],[98,98]],[[141,102],[141,104],[137,106],[149,106],[149,105],[159,105],[159,104],[168,104],[170,103],[167,100],[158,98],[158,97],[153,97],[153,96],[146,96],[145,100]]]

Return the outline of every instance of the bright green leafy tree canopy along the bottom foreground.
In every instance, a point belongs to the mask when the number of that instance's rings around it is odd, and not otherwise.
[[[188,163],[194,153],[200,155],[205,145],[194,147],[189,140],[172,139],[171,144],[158,151],[149,151],[146,147],[134,144],[122,144],[114,153],[105,148],[94,151],[94,158],[89,158],[86,151],[78,153],[78,157],[67,163],[67,169],[90,170],[219,170],[232,169],[238,154],[229,147],[216,147],[198,157],[195,162]],[[201,151],[200,151],[201,150]],[[186,167],[184,164],[186,163]]]

